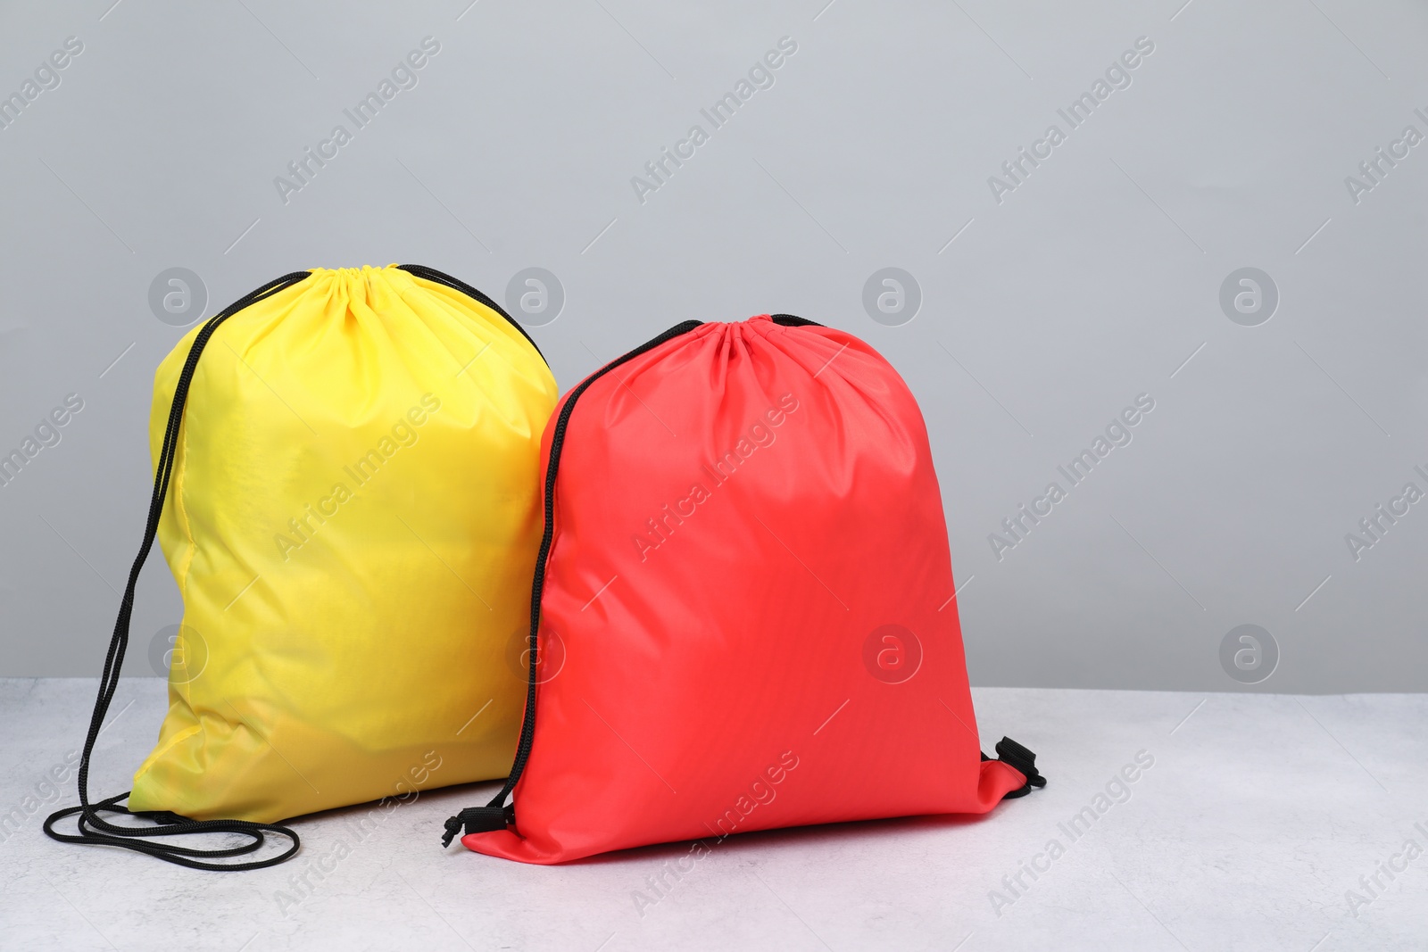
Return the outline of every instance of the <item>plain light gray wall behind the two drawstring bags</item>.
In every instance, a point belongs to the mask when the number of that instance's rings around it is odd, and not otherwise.
[[[83,43],[0,130],[0,452],[84,401],[0,487],[0,675],[99,671],[184,333],[156,277],[191,270],[211,314],[294,268],[416,261],[498,298],[553,273],[533,333],[563,388],[685,318],[790,311],[880,348],[931,430],[975,684],[1428,688],[1428,502],[1345,541],[1428,491],[1428,144],[1345,184],[1428,134],[1422,4],[111,3],[0,7],[0,94]],[[427,36],[417,86],[354,131]],[[1057,110],[1138,37],[1071,128]],[[336,124],[353,140],[284,203],[274,177]],[[693,124],[708,141],[641,203],[631,177]],[[1065,141],[998,201],[1050,124]],[[864,307],[884,267],[921,295],[898,325]],[[1272,315],[1222,308],[1244,267]],[[1001,520],[1140,394],[1134,440],[998,558]],[[130,672],[178,615],[156,555]],[[1222,652],[1240,625],[1257,641]]]

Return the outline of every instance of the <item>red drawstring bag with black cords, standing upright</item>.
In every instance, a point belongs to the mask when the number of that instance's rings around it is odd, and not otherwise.
[[[446,844],[555,864],[1045,784],[980,751],[927,430],[858,338],[687,321],[567,394],[543,457],[516,764]]]

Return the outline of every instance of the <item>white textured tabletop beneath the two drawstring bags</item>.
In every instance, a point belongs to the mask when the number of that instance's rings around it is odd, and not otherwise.
[[[43,778],[77,746],[93,689],[0,681],[0,948],[1428,948],[1428,695],[977,689],[982,746],[1031,746],[1044,791],[977,821],[734,836],[661,886],[688,845],[557,868],[443,852],[441,821],[493,785],[423,794],[360,842],[356,811],[300,821],[303,854],[247,873],[50,842]],[[121,684],[96,792],[127,789],[163,691]],[[1154,765],[1128,795],[1098,801],[1142,751]],[[1072,838],[1085,806],[1104,812]],[[338,861],[340,841],[356,845]]]

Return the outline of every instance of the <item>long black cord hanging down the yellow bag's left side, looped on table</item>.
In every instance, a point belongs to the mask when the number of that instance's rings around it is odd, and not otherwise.
[[[124,598],[119,605],[119,618],[114,621],[114,635],[110,638],[109,654],[104,658],[104,671],[99,681],[99,697],[94,699],[94,715],[90,718],[90,729],[84,738],[84,752],[80,756],[79,769],[80,805],[50,814],[49,819],[44,821],[44,832],[50,836],[50,839],[57,839],[66,844],[123,846],[124,849],[149,854],[150,856],[157,856],[159,859],[177,864],[180,866],[220,871],[261,869],[264,866],[274,866],[296,855],[298,846],[301,845],[293,829],[277,824],[254,824],[244,819],[194,821],[167,811],[134,812],[127,806],[119,805],[119,801],[127,798],[129,792],[110,796],[109,799],[103,799],[97,804],[90,804],[89,765],[90,755],[94,752],[94,742],[99,739],[99,732],[104,724],[104,715],[109,712],[110,701],[114,699],[114,691],[119,688],[119,672],[120,668],[124,667],[124,651],[129,648],[129,622],[134,612],[134,588],[139,584],[139,572],[144,567],[144,559],[149,558],[149,551],[153,548],[154,537],[159,534],[159,518],[163,514],[164,497],[169,492],[169,478],[173,472],[174,455],[178,447],[178,428],[183,422],[183,408],[188,398],[188,384],[193,381],[194,368],[198,365],[198,355],[203,354],[203,348],[208,344],[208,338],[213,337],[213,333],[218,330],[218,325],[226,320],[250,304],[256,304],[266,297],[293,287],[298,281],[306,280],[308,274],[308,271],[293,271],[291,274],[284,274],[278,280],[270,281],[256,291],[238,298],[220,314],[211,317],[208,323],[203,325],[203,330],[198,331],[197,337],[194,337],[193,347],[188,348],[188,358],[184,361],[183,373],[178,375],[178,384],[174,387],[174,400],[169,408],[169,425],[164,430],[163,450],[159,454],[159,465],[154,474],[154,492],[149,500],[149,521],[144,525],[144,541],[139,547],[139,557],[134,558],[133,568],[129,569],[129,585],[124,587]],[[157,825],[121,826],[106,821],[100,816],[101,812],[141,816],[144,819],[156,821]],[[56,832],[54,824],[66,816],[73,816],[74,814],[80,815],[79,834]],[[201,859],[190,859],[190,856],[221,859],[224,856],[243,856],[257,852],[263,846],[264,832],[287,836],[293,841],[293,845],[278,856],[251,862],[214,864],[203,862]],[[227,849],[201,849],[137,839],[139,836],[183,836],[186,834],[241,834],[244,836],[250,836],[251,839],[244,845]]]

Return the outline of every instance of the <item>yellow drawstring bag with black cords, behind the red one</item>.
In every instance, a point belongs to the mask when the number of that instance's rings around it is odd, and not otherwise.
[[[200,357],[201,355],[201,357]],[[274,821],[504,776],[526,681],[540,440],[555,381],[484,294],[418,265],[300,271],[187,334],[159,367],[156,485],[80,769],[50,818],[201,868],[297,849]],[[157,531],[184,602],[169,715],[121,796],[89,755]],[[117,657],[116,657],[117,655]],[[53,831],[80,814],[80,835]],[[194,822],[214,821],[220,822]],[[246,822],[233,822],[246,821]],[[261,831],[291,836],[281,858]],[[139,835],[247,832],[233,851]]]

